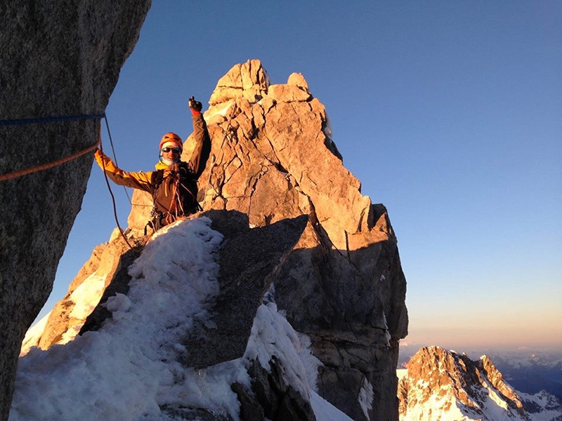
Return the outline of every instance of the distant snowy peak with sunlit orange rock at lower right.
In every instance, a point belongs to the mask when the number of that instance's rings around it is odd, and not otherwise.
[[[562,419],[547,392],[517,392],[488,356],[478,361],[440,347],[424,347],[398,370],[401,421],[533,421]]]

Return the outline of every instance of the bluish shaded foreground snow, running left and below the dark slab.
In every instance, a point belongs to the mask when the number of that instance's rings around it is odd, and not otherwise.
[[[205,370],[189,367],[181,339],[194,321],[209,317],[222,241],[209,218],[153,236],[129,268],[129,293],[107,301],[112,318],[100,330],[20,358],[9,420],[178,420],[181,410],[192,408],[239,420],[240,402],[230,386],[249,388],[249,361],[267,369],[271,356],[287,382],[310,399],[318,420],[349,420],[315,393],[319,362],[310,340],[273,302],[259,307],[244,357]]]

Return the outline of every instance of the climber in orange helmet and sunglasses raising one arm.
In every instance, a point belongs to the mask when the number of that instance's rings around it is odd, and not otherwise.
[[[182,216],[202,210],[197,202],[197,179],[209,158],[211,140],[201,114],[201,102],[191,97],[188,105],[192,114],[195,139],[195,149],[188,162],[181,161],[183,142],[176,133],[166,133],[160,140],[156,171],[123,171],[100,149],[96,149],[94,155],[100,168],[105,168],[105,173],[113,182],[152,194],[152,219],[147,227],[152,227],[154,231]]]

